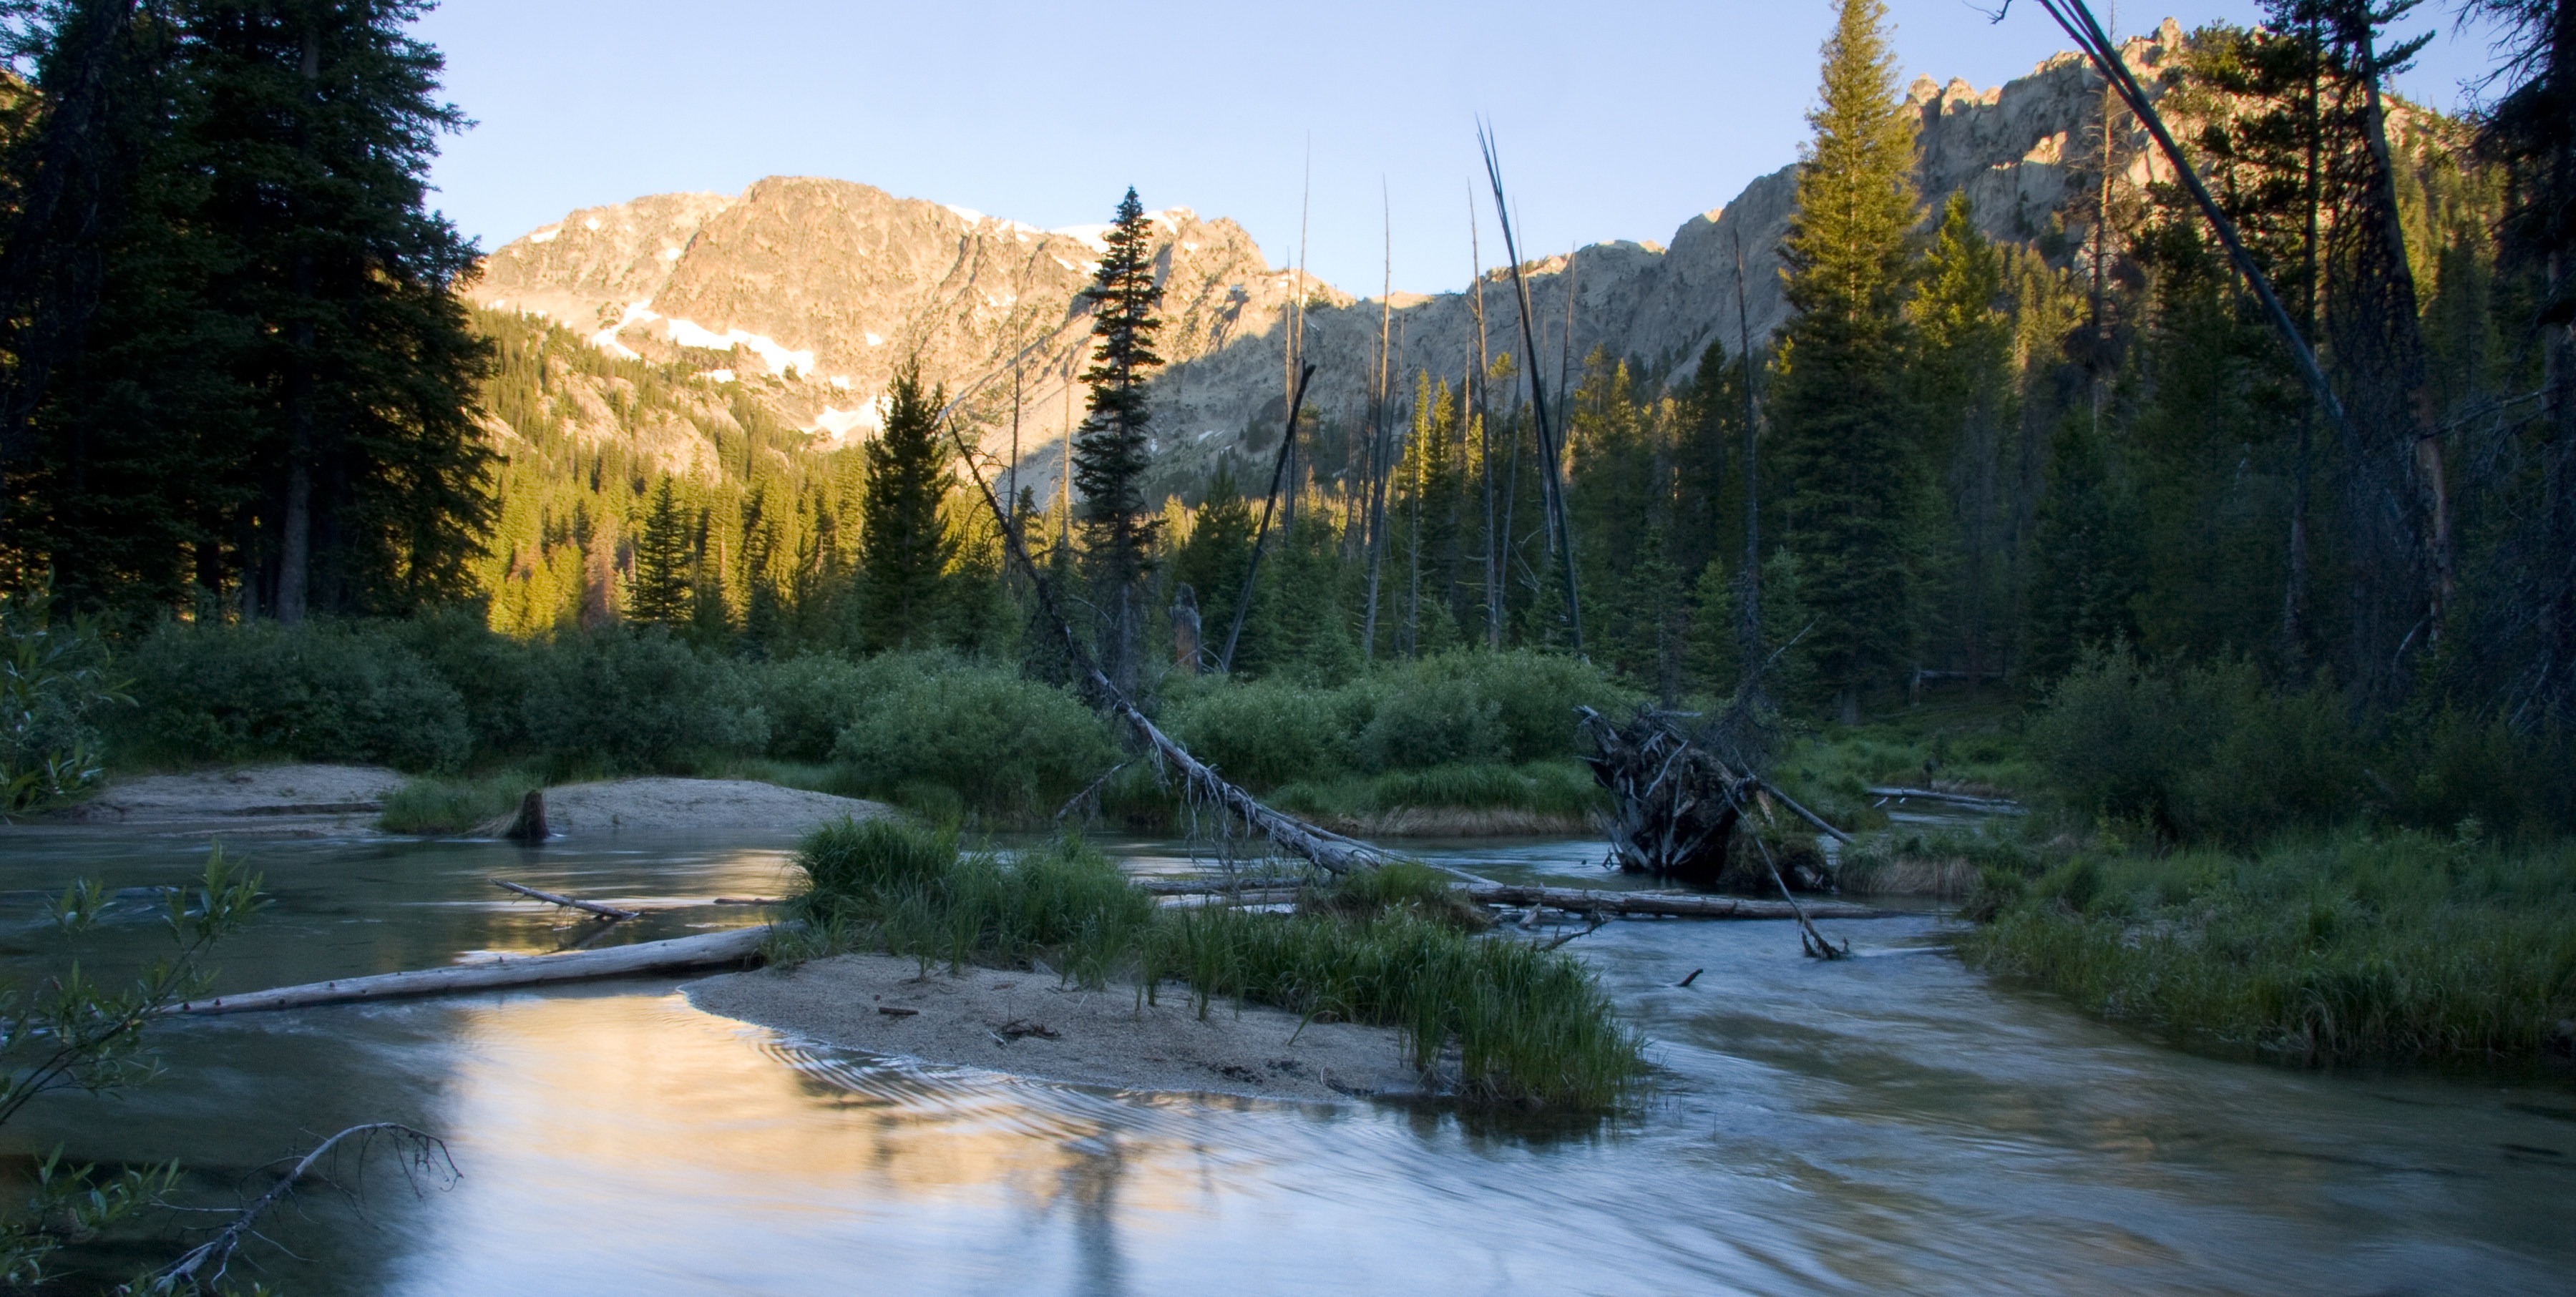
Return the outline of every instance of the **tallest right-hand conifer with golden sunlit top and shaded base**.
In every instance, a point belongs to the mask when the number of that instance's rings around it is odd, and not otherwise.
[[[1839,0],[1816,142],[1783,247],[1788,355],[1777,386],[1790,548],[1816,618],[1808,654],[1844,721],[1914,651],[1909,515],[1919,455],[1904,378],[1914,142],[1880,0]]]

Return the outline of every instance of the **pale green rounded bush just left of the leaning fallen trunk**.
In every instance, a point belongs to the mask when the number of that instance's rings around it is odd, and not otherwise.
[[[1018,669],[945,654],[891,654],[868,667],[881,685],[855,697],[832,762],[876,795],[927,782],[974,811],[1028,816],[1054,811],[1118,762],[1100,715]]]

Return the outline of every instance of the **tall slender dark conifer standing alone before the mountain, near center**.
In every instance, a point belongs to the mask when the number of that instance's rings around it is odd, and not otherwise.
[[[1146,376],[1162,365],[1154,355],[1154,224],[1131,188],[1118,201],[1118,221],[1103,237],[1108,252],[1084,288],[1092,304],[1092,368],[1082,381],[1092,389],[1090,412],[1074,440],[1074,486],[1082,492],[1084,576],[1100,607],[1100,664],[1121,690],[1133,690],[1139,664],[1141,584],[1151,561],[1157,517],[1144,502],[1144,471],[1151,463],[1146,422]]]

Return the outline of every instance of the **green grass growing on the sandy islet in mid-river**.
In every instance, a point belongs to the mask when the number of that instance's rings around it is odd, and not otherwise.
[[[961,849],[953,829],[842,821],[796,860],[804,929],[781,937],[778,960],[884,950],[925,973],[1043,960],[1079,986],[1133,978],[1141,998],[1180,983],[1200,1014],[1236,1001],[1394,1027],[1425,1073],[1455,1063],[1468,1101],[1607,1107],[1643,1076],[1643,1042],[1592,970],[1476,937],[1481,911],[1419,865],[1327,888],[1298,914],[1247,914],[1162,911],[1072,836],[1005,860]]]

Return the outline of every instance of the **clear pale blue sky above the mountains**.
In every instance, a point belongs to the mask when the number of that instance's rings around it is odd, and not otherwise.
[[[1991,8],[1996,0],[1978,0]],[[2249,0],[2097,15],[2249,23]],[[2442,0],[2398,87],[2460,106],[2486,33]],[[2069,41],[2022,0],[1888,0],[1904,80],[1978,87]],[[1123,26],[1110,26],[1123,23]],[[417,33],[477,124],[443,144],[435,203],[484,250],[572,208],[739,193],[762,175],[860,180],[1056,229],[1146,208],[1231,216],[1285,265],[1378,293],[1463,286],[1468,201],[1492,124],[1522,255],[1669,239],[1747,180],[1795,162],[1824,0],[1100,5],[1018,0],[446,0]],[[1391,252],[1388,252],[1391,244]]]

